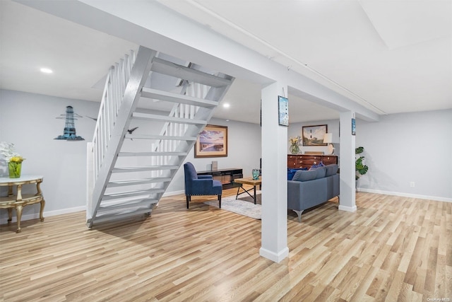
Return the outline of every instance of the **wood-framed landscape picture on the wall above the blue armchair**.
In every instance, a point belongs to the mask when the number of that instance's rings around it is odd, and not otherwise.
[[[226,156],[227,127],[208,124],[196,139],[195,158]]]

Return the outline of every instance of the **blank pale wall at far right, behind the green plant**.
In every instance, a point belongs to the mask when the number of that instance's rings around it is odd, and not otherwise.
[[[357,120],[356,145],[369,166],[361,190],[452,202],[451,109]]]

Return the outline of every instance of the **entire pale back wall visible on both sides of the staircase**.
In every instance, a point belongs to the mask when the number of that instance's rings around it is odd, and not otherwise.
[[[83,116],[75,122],[77,135],[85,141],[54,139],[63,134],[65,122],[56,117],[64,114],[68,105]],[[95,121],[88,117],[97,117],[99,105],[85,100],[0,90],[0,141],[15,144],[16,151],[26,158],[22,175],[44,176],[41,185],[46,201],[44,216],[85,209],[86,143],[92,141],[95,128]],[[258,124],[215,119],[210,120],[210,124],[228,127],[228,156],[194,158],[192,149],[186,161],[194,163],[198,170],[208,170],[212,161],[218,161],[218,168],[243,168],[244,176],[251,176],[251,170],[259,167],[261,158],[261,127]],[[144,127],[136,131],[144,131]],[[0,161],[0,177],[8,177],[6,168],[6,162]],[[35,188],[32,186],[24,187],[25,192],[33,190]],[[183,190],[182,167],[169,185],[167,194],[181,193]],[[0,188],[0,194],[6,194],[5,187]],[[23,210],[23,220],[38,216],[39,206],[29,206]],[[0,211],[0,223],[5,223],[6,218],[7,211]]]

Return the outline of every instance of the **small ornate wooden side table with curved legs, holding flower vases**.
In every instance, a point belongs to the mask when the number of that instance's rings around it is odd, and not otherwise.
[[[0,178],[0,186],[8,186],[8,196],[0,197],[0,209],[8,209],[8,224],[13,220],[13,209],[16,209],[17,230],[20,233],[20,219],[22,218],[22,209],[28,204],[37,204],[40,202],[40,219],[44,221],[42,211],[44,211],[45,201],[42,197],[41,185],[42,176],[23,175],[20,178]],[[22,194],[22,186],[36,184],[36,194]],[[13,187],[17,187],[16,194],[13,194]]]

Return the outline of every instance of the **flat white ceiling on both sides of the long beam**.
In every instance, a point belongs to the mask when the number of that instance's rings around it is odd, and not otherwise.
[[[160,0],[379,114],[452,108],[450,0]],[[137,45],[0,0],[0,88],[99,101],[94,88]],[[41,74],[47,66],[54,74]],[[261,87],[236,79],[214,117],[259,122]],[[289,95],[290,122],[338,112]]]

